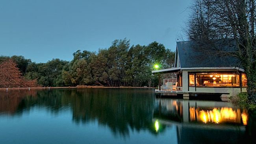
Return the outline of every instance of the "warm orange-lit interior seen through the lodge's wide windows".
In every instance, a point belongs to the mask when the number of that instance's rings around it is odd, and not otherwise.
[[[212,73],[196,73],[197,87],[240,87],[239,74],[231,72],[212,72]],[[189,74],[189,86],[195,86],[194,74]],[[245,74],[242,74],[242,86],[245,87],[247,79]]]

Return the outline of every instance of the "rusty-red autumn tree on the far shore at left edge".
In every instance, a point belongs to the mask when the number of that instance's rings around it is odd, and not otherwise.
[[[36,80],[26,80],[12,59],[0,64],[0,87],[37,87]]]

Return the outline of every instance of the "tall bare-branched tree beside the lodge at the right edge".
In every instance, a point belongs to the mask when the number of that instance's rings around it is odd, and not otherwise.
[[[255,6],[255,0],[194,0],[187,29],[189,39],[202,53],[237,57],[247,75],[252,103],[256,103]],[[216,43],[220,39],[235,44],[235,48],[223,49],[223,43]]]

